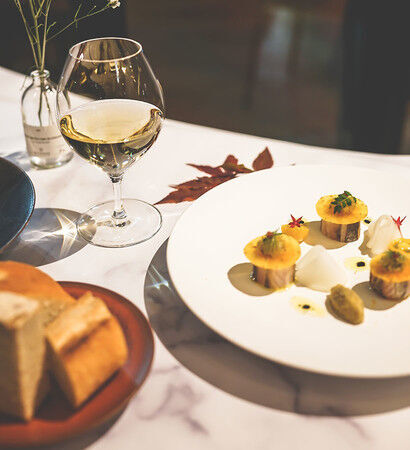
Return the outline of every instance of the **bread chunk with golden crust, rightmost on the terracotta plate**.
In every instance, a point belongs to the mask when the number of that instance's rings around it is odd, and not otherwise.
[[[119,323],[89,292],[47,327],[46,338],[51,371],[73,407],[84,403],[127,359]]]

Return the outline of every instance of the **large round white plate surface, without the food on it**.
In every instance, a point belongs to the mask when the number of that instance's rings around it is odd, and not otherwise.
[[[268,293],[249,281],[256,289],[253,294],[264,294],[249,295],[228,277],[234,266],[247,263],[243,248],[251,239],[287,223],[291,213],[319,220],[318,198],[345,189],[367,203],[373,219],[410,214],[409,177],[348,166],[264,170],[202,196],[178,221],[168,243],[169,271],[181,298],[213,330],[271,360],[341,376],[409,375],[410,300],[380,299],[369,289],[368,272],[347,270],[349,287],[362,283],[360,293],[370,307],[364,323],[356,326],[326,310],[323,317],[302,314],[290,301],[303,296],[324,307],[326,293],[297,286]],[[405,236],[410,235],[408,222],[402,228]],[[331,255],[342,264],[347,257],[362,256],[359,246],[366,228],[362,225],[359,241],[329,249]],[[310,248],[303,243],[302,255]]]

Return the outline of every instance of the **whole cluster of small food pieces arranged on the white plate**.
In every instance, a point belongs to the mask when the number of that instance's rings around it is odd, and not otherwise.
[[[367,217],[367,205],[362,200],[345,190],[321,197],[316,210],[324,237],[343,243],[359,239],[360,223]],[[362,323],[363,300],[343,286],[347,282],[345,269],[334,261],[330,251],[315,245],[297,263],[301,255],[299,244],[309,236],[309,223],[302,221],[302,217],[295,219],[292,214],[291,218],[281,226],[281,232],[268,231],[246,245],[244,254],[252,263],[250,279],[272,292],[294,282],[313,290],[330,291],[327,300],[332,311],[348,323]],[[369,226],[362,243],[362,253],[376,255],[370,262],[370,286],[389,300],[405,300],[410,295],[410,239],[404,238],[401,231],[405,219],[406,216],[397,219],[380,216],[375,225]],[[367,219],[367,223],[371,220]],[[366,260],[359,258],[350,267],[351,260],[345,261],[348,269],[367,268]]]

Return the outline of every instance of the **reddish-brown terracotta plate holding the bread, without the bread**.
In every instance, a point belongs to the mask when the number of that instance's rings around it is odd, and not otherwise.
[[[0,447],[41,446],[89,431],[111,419],[144,382],[153,359],[154,340],[147,319],[129,300],[115,292],[86,283],[60,282],[73,297],[86,291],[100,297],[124,331],[129,356],[126,364],[80,409],[73,411],[55,389],[29,423],[0,416]]]

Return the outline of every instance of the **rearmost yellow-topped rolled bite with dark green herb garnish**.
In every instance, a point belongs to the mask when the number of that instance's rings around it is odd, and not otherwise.
[[[321,197],[316,211],[322,219],[320,229],[328,238],[339,242],[359,239],[360,222],[367,216],[367,206],[350,192]]]

